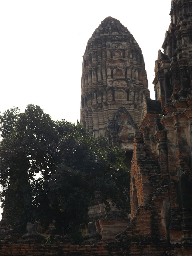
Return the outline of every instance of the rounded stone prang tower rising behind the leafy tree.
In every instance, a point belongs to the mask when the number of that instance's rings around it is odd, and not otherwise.
[[[132,151],[144,95],[149,97],[141,49],[127,28],[108,17],[83,56],[80,123],[94,138]]]

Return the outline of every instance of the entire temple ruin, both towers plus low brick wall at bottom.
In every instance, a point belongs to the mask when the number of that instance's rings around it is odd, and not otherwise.
[[[133,152],[128,227],[117,240],[86,246],[4,239],[0,255],[192,256],[192,0],[171,3],[156,100],[141,50],[118,20],[100,24],[83,59],[80,122]]]

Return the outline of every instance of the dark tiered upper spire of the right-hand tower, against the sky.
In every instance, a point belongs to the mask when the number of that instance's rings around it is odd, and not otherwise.
[[[192,97],[192,0],[172,0],[170,16],[153,82],[162,108]]]

